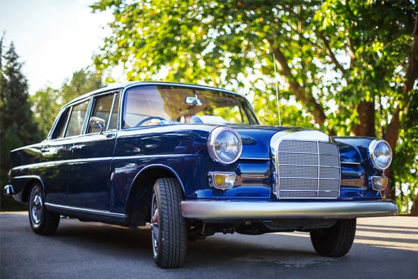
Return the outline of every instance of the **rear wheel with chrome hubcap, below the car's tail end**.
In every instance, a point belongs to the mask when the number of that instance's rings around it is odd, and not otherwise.
[[[32,186],[28,204],[29,222],[33,232],[42,235],[55,234],[59,225],[59,214],[46,209],[45,195],[40,185]]]

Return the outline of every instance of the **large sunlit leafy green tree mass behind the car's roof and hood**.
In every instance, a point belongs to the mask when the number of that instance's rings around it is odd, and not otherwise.
[[[130,80],[242,91],[264,123],[277,123],[276,63],[282,123],[385,138],[396,154],[386,195],[396,194],[403,212],[413,199],[418,206],[415,1],[101,0],[92,8],[114,14],[99,70],[122,65]]]

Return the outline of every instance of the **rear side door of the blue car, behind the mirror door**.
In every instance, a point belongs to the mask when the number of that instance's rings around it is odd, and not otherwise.
[[[49,138],[40,149],[42,164],[38,173],[45,186],[45,202],[51,204],[67,204],[65,183],[74,137],[65,137],[65,133],[71,112],[72,106],[60,112]]]

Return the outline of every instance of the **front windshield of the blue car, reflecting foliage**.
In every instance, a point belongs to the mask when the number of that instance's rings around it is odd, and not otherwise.
[[[122,128],[171,123],[258,124],[248,101],[233,93],[181,86],[128,89]]]

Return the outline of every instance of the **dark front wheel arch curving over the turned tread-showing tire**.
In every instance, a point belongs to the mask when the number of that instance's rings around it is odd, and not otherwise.
[[[150,219],[150,198],[157,179],[172,177],[180,183],[183,197],[185,188],[177,172],[162,164],[148,165],[135,176],[126,200],[127,223],[131,227],[145,225]]]

